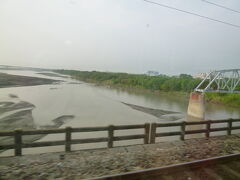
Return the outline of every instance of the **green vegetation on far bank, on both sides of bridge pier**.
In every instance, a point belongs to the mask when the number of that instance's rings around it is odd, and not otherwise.
[[[201,82],[201,79],[195,79],[187,74],[180,74],[179,76],[147,76],[144,74],[75,70],[56,70],[55,72],[70,75],[72,78],[81,81],[98,83],[101,85],[171,93],[177,92],[178,95],[184,95],[193,91]],[[240,95],[207,93],[207,101],[224,105],[240,106]]]

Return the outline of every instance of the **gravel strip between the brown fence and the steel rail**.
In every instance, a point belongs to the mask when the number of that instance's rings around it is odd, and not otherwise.
[[[0,179],[86,179],[239,153],[240,135],[0,158]],[[62,158],[60,158],[62,157]]]

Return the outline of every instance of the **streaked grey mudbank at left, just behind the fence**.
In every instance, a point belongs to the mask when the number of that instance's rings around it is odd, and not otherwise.
[[[34,122],[32,111],[35,105],[22,101],[17,95],[9,94],[0,102],[0,130],[33,130],[59,128],[65,122],[74,118],[74,115],[62,115],[52,120],[51,125],[38,126]],[[41,139],[45,135],[24,136],[23,142],[30,143]],[[11,136],[0,137],[0,146],[13,144],[14,138]],[[2,152],[2,150],[0,150]]]

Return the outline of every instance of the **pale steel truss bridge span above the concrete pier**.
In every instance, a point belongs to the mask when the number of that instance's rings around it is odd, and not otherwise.
[[[195,92],[240,93],[240,69],[211,71],[195,88]]]

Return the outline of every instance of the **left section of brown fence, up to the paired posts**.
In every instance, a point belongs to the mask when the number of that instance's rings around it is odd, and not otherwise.
[[[144,129],[144,134],[134,134],[128,136],[114,136],[115,130],[130,130],[130,129]],[[96,137],[96,138],[87,138],[87,139],[72,139],[72,133],[77,132],[96,132],[96,131],[107,131],[108,137]],[[98,142],[107,142],[107,147],[112,148],[114,141],[122,140],[133,140],[133,139],[143,139],[144,144],[149,142],[149,133],[150,124],[140,124],[140,125],[121,125],[121,126],[105,126],[105,127],[82,127],[82,128],[72,128],[66,127],[65,129],[47,129],[47,130],[20,130],[15,131],[1,131],[1,136],[13,136],[14,144],[10,145],[1,145],[0,150],[14,149],[15,156],[22,155],[22,148],[30,147],[44,147],[44,146],[58,146],[65,145],[65,151],[71,151],[72,144],[85,144],[85,143],[98,143]],[[32,142],[32,143],[23,143],[23,135],[39,135],[39,134],[58,134],[65,133],[65,140],[60,141],[47,141],[47,142]]]

